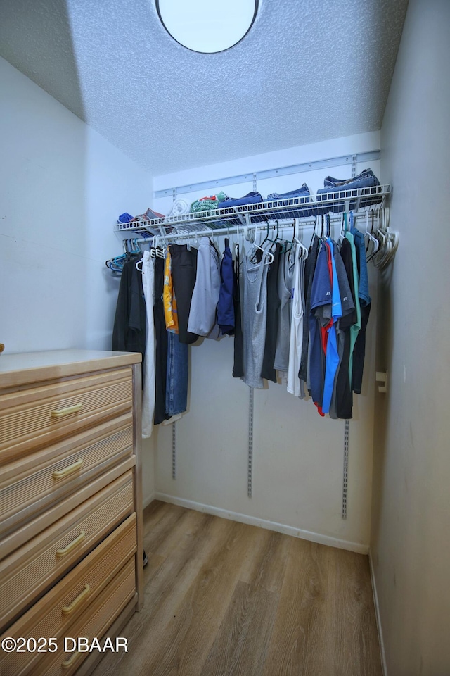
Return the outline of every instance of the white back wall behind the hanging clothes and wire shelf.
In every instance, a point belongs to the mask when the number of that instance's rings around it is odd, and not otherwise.
[[[250,173],[250,182],[224,187],[231,196],[252,189],[255,170],[379,148],[378,133],[242,158],[222,165],[156,177],[155,190]],[[379,161],[371,163],[379,173]],[[358,167],[362,170],[363,165]],[[331,174],[350,177],[351,166],[264,180],[258,189],[285,192],[309,184],[323,187]],[[200,194],[184,197],[193,201]],[[157,199],[167,213],[172,200]],[[309,244],[311,231],[304,235]],[[375,296],[375,283],[371,283]],[[375,329],[375,313],[368,333]],[[355,397],[350,423],[348,516],[341,518],[344,422],[320,418],[311,401],[295,399],[285,386],[255,390],[253,496],[247,495],[249,389],[231,376],[233,339],[204,340],[191,347],[188,413],[176,423],[177,478],[172,479],[172,429],[157,434],[157,496],[168,501],[261,523],[284,532],[356,551],[368,551],[371,509],[374,342],[368,339],[364,394]]]

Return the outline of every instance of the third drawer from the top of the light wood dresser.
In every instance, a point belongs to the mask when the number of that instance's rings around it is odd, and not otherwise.
[[[132,512],[133,472],[128,470],[4,558],[0,562],[0,630]]]

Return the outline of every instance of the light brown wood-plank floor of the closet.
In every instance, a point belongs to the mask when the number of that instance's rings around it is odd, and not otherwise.
[[[94,676],[382,676],[366,556],[160,501],[143,523],[144,607]]]

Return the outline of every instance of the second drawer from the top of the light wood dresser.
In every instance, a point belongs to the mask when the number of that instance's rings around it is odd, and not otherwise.
[[[130,411],[5,465],[0,475],[0,536],[129,456],[132,446]]]

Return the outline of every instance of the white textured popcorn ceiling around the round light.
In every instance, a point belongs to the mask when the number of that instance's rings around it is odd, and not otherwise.
[[[0,55],[156,175],[380,129],[407,0],[259,0],[197,54],[154,0],[0,0]]]

